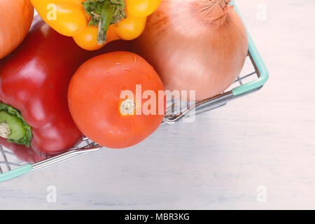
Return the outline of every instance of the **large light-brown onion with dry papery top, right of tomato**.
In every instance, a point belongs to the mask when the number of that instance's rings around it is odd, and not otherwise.
[[[167,90],[195,90],[196,100],[227,89],[248,50],[246,29],[230,0],[163,0],[134,51],[151,63]]]

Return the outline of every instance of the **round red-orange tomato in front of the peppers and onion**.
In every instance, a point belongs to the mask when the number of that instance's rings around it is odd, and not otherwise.
[[[68,102],[79,130],[108,148],[138,144],[159,127],[165,114],[160,77],[131,52],[111,52],[81,65],[71,79]]]

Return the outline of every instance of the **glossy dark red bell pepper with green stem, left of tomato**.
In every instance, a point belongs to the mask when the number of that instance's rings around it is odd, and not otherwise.
[[[80,64],[99,53],[79,48],[35,18],[25,41],[1,65],[0,137],[41,156],[73,146],[81,133],[69,113],[69,81]]]

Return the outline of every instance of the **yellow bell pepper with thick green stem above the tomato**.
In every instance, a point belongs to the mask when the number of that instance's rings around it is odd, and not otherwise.
[[[142,34],[146,18],[162,0],[31,0],[38,14],[59,34],[72,36],[85,50],[130,41]]]

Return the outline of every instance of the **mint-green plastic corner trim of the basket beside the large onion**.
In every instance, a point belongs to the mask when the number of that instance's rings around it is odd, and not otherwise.
[[[237,11],[239,16],[241,17],[239,10],[238,10],[238,8],[235,5],[235,2],[233,0],[232,0],[231,4],[234,6],[235,10]],[[252,90],[256,90],[259,87],[262,87],[262,85],[264,85],[269,78],[269,72],[267,70],[267,67],[266,67],[265,63],[263,62],[262,58],[260,57],[260,54],[259,54],[255,44],[253,43],[253,39],[251,38],[251,35],[249,34],[247,28],[246,28],[246,31],[247,31],[247,35],[248,35],[248,52],[251,54],[251,58],[253,59],[253,61],[255,62],[256,66],[257,66],[259,78],[256,80],[253,80],[249,83],[246,83],[244,85],[241,85],[239,87],[235,87],[232,90],[233,95],[235,97],[239,96],[241,94],[246,94],[246,92],[251,92]]]

